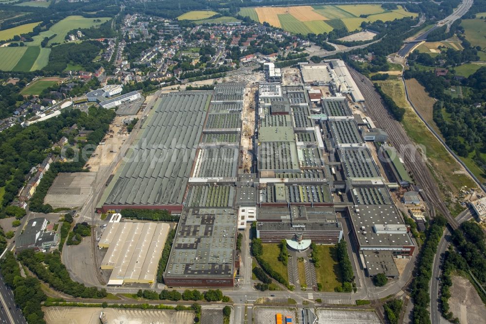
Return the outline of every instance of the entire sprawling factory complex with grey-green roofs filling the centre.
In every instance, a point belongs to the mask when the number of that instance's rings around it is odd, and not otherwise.
[[[249,88],[243,83],[163,94],[143,121],[138,144],[107,185],[98,210],[181,215],[163,273],[167,286],[234,286],[237,232],[247,222],[256,222],[263,242],[285,239],[297,251],[312,241],[336,244],[351,231],[368,275],[397,277],[393,258],[414,252],[410,228],[389,193],[407,183],[380,171],[375,143],[386,141],[386,133],[353,113],[364,98],[344,62],[299,68],[303,84],[258,85],[248,152],[242,110]],[[248,168],[246,154],[252,156]],[[111,225],[99,243],[108,247],[102,267],[113,269],[110,280],[153,280],[150,269],[127,277],[131,268],[125,266],[165,241],[166,234],[150,234],[152,229]],[[134,243],[130,260],[120,261],[124,248],[117,237],[125,232],[143,242]]]

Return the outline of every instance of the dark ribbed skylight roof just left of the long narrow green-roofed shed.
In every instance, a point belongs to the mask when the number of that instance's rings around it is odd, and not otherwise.
[[[381,177],[367,148],[339,148],[338,154],[347,179]]]

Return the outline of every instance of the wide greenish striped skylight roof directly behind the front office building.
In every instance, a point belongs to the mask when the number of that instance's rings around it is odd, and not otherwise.
[[[285,202],[332,202],[331,192],[327,184],[285,185]],[[267,185],[259,190],[259,202],[279,202],[276,197],[275,185]]]

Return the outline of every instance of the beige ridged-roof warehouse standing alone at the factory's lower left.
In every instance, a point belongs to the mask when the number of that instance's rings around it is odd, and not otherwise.
[[[98,242],[107,248],[102,270],[112,270],[108,286],[152,284],[169,233],[166,223],[108,223]]]

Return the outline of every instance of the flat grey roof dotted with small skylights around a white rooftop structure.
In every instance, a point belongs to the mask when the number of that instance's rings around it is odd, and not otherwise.
[[[359,205],[348,207],[348,213],[361,249],[414,245],[393,205]]]

